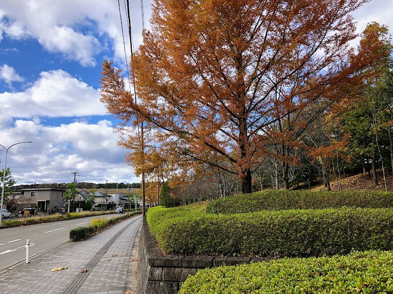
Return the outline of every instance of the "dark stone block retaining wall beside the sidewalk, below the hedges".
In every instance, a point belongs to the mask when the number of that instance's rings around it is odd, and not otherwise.
[[[198,269],[234,266],[266,259],[161,254],[146,219],[140,231],[138,294],[176,294],[189,274]]]

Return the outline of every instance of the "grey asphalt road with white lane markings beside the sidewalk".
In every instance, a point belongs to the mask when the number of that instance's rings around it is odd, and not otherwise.
[[[69,232],[73,228],[86,226],[92,219],[113,218],[115,216],[115,214],[110,214],[0,229],[0,271],[26,259],[27,239],[30,240],[31,257],[67,242]]]

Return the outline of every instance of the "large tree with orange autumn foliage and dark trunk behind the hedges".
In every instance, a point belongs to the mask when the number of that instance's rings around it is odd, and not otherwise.
[[[111,88],[122,80],[111,80],[108,62],[102,100],[128,122],[148,122],[176,159],[174,170],[207,163],[237,174],[250,193],[267,146],[299,144],[293,134],[307,120],[293,118],[309,117],[321,98],[324,111],[356,94],[348,85],[359,84],[378,55],[375,44],[349,46],[357,37],[350,13],[365,2],[156,0],[151,30],[132,59],[138,103],[124,87]],[[295,127],[277,131],[285,119]]]

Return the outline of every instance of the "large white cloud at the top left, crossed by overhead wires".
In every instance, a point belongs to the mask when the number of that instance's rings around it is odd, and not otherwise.
[[[127,55],[130,42],[124,3],[121,5]],[[141,42],[140,4],[131,3],[131,20],[136,47]],[[144,3],[145,15],[150,2]],[[148,23],[147,20],[145,23]],[[36,39],[44,49],[63,55],[82,66],[94,66],[95,55],[106,46],[114,51],[114,59],[124,64],[124,46],[117,1],[112,0],[2,0],[0,2],[0,40]],[[108,38],[109,37],[109,38]],[[99,38],[108,38],[99,42]],[[128,41],[127,41],[128,40]],[[111,57],[112,58],[112,57]]]

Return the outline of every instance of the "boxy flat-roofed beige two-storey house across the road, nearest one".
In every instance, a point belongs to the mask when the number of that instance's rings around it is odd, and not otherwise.
[[[25,197],[32,197],[37,203],[37,212],[55,213],[63,203],[65,189],[40,188],[22,189]]]

